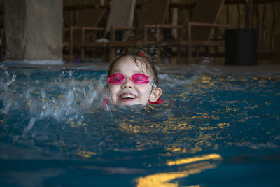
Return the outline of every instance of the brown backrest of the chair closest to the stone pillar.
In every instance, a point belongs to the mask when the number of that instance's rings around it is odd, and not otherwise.
[[[85,9],[80,11],[75,26],[77,27],[97,27],[102,17],[106,13],[106,8]]]

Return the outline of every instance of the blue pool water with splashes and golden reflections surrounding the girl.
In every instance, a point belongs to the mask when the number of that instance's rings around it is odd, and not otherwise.
[[[165,104],[103,106],[106,71],[0,69],[0,186],[279,186],[280,80],[160,73]]]

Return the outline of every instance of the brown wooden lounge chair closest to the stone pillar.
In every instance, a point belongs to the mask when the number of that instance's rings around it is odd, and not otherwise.
[[[79,46],[85,41],[85,38],[92,36],[91,34],[85,34],[86,29],[94,29],[94,31],[103,31],[104,28],[98,28],[99,22],[102,20],[103,16],[106,13],[106,8],[94,8],[94,9],[85,9],[80,11],[80,15],[76,20],[75,24],[69,28],[64,28],[64,47],[69,47],[70,54],[69,59],[73,61],[73,48],[74,46]],[[89,30],[90,30],[89,29]],[[80,48],[80,55],[83,58],[85,53],[84,48]]]

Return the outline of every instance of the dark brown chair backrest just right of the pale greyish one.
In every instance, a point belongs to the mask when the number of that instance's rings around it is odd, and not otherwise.
[[[165,24],[168,16],[170,0],[148,0],[137,12],[137,34],[144,34],[145,25]],[[139,36],[138,38],[141,38]]]

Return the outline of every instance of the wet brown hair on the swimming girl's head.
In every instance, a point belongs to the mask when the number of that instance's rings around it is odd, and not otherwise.
[[[135,64],[137,64],[137,67],[139,67],[139,69],[141,69],[142,64],[145,64],[146,72],[148,73],[148,76],[150,76],[150,78],[155,82],[155,84],[158,85],[158,72],[155,69],[155,64],[153,63],[152,58],[144,53],[132,52],[132,53],[125,53],[123,55],[120,55],[115,60],[113,60],[109,65],[108,77],[111,76],[113,67],[116,64],[116,62],[118,62],[118,60],[120,60],[123,57],[131,57],[132,60],[134,60]],[[141,69],[141,71],[143,71],[143,69]]]

